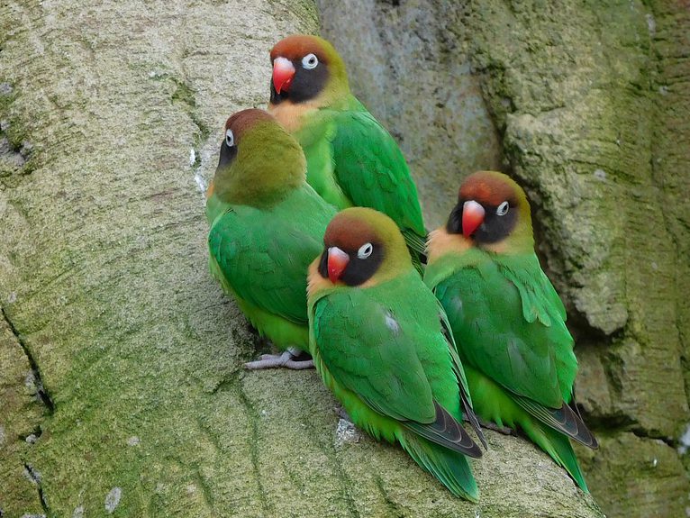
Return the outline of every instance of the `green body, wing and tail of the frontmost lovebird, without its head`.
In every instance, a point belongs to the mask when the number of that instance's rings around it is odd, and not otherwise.
[[[459,360],[438,325],[442,309],[420,278],[410,272],[381,286],[326,290],[310,299],[310,312],[314,364],[355,423],[397,439],[454,495],[476,502],[465,455],[481,450],[458,423],[451,364]]]

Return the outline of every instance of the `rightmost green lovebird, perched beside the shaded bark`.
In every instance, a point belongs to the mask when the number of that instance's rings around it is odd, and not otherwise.
[[[448,314],[477,414],[521,428],[587,491],[568,438],[597,442],[568,406],[573,338],[534,253],[527,197],[511,178],[482,171],[458,198],[446,227],[430,234],[424,282]]]

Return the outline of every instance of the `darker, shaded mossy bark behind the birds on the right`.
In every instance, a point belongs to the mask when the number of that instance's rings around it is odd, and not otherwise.
[[[580,455],[604,512],[688,513],[690,4],[318,4],[430,226],[474,170],[525,187],[577,337],[577,396],[602,443]]]

